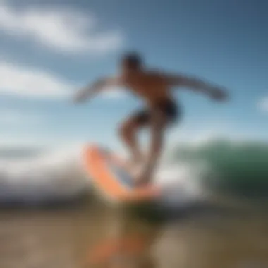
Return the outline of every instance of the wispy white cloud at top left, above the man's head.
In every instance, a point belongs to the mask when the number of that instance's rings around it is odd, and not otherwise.
[[[88,12],[44,7],[18,10],[0,1],[0,30],[61,52],[102,54],[121,47],[121,32],[99,31],[98,23]]]

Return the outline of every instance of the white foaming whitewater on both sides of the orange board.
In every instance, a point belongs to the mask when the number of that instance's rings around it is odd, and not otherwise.
[[[51,150],[31,157],[0,159],[0,202],[44,204],[68,201],[92,192],[90,176],[83,167],[83,145]],[[181,204],[200,195],[193,167],[161,164],[153,183],[165,190],[164,200]]]

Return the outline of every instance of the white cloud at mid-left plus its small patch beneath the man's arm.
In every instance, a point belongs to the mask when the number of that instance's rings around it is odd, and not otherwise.
[[[36,68],[26,68],[0,61],[0,95],[16,95],[38,99],[71,99],[78,85]],[[125,90],[107,88],[100,95],[104,99],[128,96]]]

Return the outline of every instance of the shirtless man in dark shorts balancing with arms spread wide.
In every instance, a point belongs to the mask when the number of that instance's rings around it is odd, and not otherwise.
[[[144,169],[135,178],[138,185],[150,182],[152,172],[159,159],[163,135],[166,128],[181,115],[178,106],[170,94],[172,87],[187,87],[202,92],[212,99],[226,99],[226,92],[216,85],[209,85],[203,80],[185,75],[173,75],[160,71],[147,70],[139,54],[126,54],[121,59],[121,72],[116,77],[102,78],[90,87],[85,87],[75,95],[80,102],[95,96],[105,87],[126,87],[145,102],[145,109],[137,111],[126,119],[119,128],[121,139],[130,149],[131,161],[135,164],[145,162],[138,147],[136,134],[140,128],[150,127],[152,139],[150,152]]]

